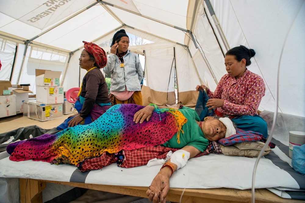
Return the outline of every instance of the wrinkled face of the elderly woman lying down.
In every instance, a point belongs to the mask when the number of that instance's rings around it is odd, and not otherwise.
[[[227,128],[221,121],[213,117],[208,117],[206,121],[202,122],[201,130],[209,141],[217,141],[224,138]]]

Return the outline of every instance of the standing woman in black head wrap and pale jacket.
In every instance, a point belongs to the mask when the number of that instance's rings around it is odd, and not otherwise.
[[[104,68],[111,74],[110,100],[112,105],[119,103],[142,104],[141,81],[143,69],[137,54],[128,50],[129,37],[125,30],[114,34],[108,62]]]

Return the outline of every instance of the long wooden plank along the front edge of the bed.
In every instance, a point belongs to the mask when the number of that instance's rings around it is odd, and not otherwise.
[[[57,183],[63,185],[70,185],[74,187],[83,187],[92,190],[99,190],[105,192],[114,192],[119,194],[126,194],[131,196],[146,198],[147,187],[131,187],[131,186],[116,186],[116,185],[99,185],[99,184],[85,184],[85,183],[71,183],[61,181],[49,181],[50,183]],[[167,201],[179,202],[183,189],[171,188]],[[256,189],[255,199],[257,203],[292,203],[292,202],[305,202],[302,200],[285,199],[273,194],[267,189]],[[214,188],[214,189],[186,189],[182,201],[185,203],[194,202],[251,202],[251,190],[238,190],[231,188]]]

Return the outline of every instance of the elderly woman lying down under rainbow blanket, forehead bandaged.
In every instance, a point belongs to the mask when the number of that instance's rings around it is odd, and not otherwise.
[[[77,165],[89,157],[103,152],[140,149],[147,146],[182,148],[173,153],[152,181],[147,195],[154,202],[163,201],[169,191],[169,178],[175,170],[185,166],[187,160],[206,150],[208,141],[235,134],[228,118],[208,118],[199,121],[195,110],[159,109],[150,104],[118,104],[88,125],[67,128],[55,135],[41,135],[10,144],[9,159],[45,161]]]

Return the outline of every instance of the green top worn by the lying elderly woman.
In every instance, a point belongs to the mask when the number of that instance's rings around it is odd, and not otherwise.
[[[184,133],[180,132],[180,144],[177,142],[176,133],[172,138],[170,138],[170,140],[163,143],[161,146],[183,148],[187,145],[193,146],[200,152],[203,152],[209,145],[209,141],[204,137],[203,132],[196,123],[196,121],[200,121],[196,111],[188,107],[182,107],[178,110],[188,120],[181,128]]]

